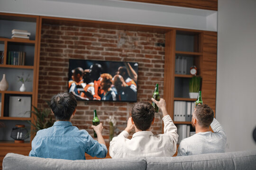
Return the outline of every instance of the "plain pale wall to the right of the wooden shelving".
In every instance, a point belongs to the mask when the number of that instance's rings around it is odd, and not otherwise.
[[[256,149],[256,0],[218,1],[216,118],[227,151]]]

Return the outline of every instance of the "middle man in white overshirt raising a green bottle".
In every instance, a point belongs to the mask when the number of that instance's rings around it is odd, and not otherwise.
[[[155,120],[155,109],[149,102],[137,102],[131,111],[127,127],[119,136],[110,142],[110,156],[112,158],[130,158],[142,156],[173,156],[176,152],[178,140],[177,127],[168,115],[164,99],[156,101],[162,110],[164,121],[164,134],[153,135],[150,131]],[[129,132],[135,128],[135,134],[128,139]]]

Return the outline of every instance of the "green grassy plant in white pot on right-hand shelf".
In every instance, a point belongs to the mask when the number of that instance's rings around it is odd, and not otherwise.
[[[198,91],[200,90],[201,76],[193,76],[189,80],[189,97],[197,98]]]

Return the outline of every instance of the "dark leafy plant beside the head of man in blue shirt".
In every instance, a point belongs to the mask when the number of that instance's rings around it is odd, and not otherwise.
[[[48,106],[50,106],[50,102],[47,101]],[[35,117],[34,123],[33,121],[28,121],[28,123],[34,127],[32,130],[32,133],[37,133],[38,130],[52,127],[54,124],[54,120],[51,117],[51,110],[49,108],[45,109],[38,109],[37,107],[33,106],[34,111],[30,111],[31,113],[34,113]]]

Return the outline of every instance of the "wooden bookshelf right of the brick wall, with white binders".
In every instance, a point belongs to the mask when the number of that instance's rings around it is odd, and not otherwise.
[[[186,62],[179,69],[177,59]],[[215,111],[217,33],[198,30],[174,29],[165,34],[165,101],[168,113],[178,127],[192,127],[191,121],[175,120],[175,102],[195,102],[189,98],[190,67],[196,66],[197,76],[202,78],[202,100]],[[178,66],[178,69],[177,69]],[[183,105],[184,106],[184,105]],[[178,110],[183,109],[180,106]],[[181,108],[182,107],[182,108]],[[186,105],[185,105],[186,107]],[[184,109],[185,110],[185,109]],[[193,110],[191,110],[192,112]],[[187,129],[188,130],[188,129]],[[190,131],[194,131],[192,128]],[[184,131],[183,131],[184,132]],[[179,136],[183,136],[179,134]],[[179,140],[180,141],[180,140]]]

